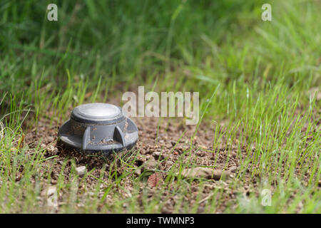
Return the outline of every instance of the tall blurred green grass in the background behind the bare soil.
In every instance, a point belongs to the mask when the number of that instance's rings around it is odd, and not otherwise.
[[[50,3],[58,5],[58,21],[46,18]],[[220,84],[226,115],[233,86],[238,109],[249,88],[256,96],[280,83],[317,86],[320,2],[271,1],[272,21],[261,20],[263,3],[4,0],[0,90],[18,100],[24,93],[36,110],[37,100],[53,100],[68,85],[76,105],[81,90],[106,98],[138,85],[151,89],[157,80],[158,90],[200,91],[202,100]]]

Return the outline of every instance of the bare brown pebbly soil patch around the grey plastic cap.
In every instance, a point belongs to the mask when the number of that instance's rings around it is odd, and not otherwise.
[[[133,120],[138,125],[139,133],[136,147],[131,151],[118,152],[110,157],[82,155],[72,148],[61,145],[56,141],[58,123],[53,123],[50,126],[49,120],[46,119],[39,121],[37,128],[26,133],[24,141],[30,148],[39,145],[43,147],[44,157],[55,157],[44,161],[44,166],[52,167],[51,173],[41,172],[41,175],[49,177],[48,185],[57,184],[62,168],[63,182],[68,184],[73,182],[75,178],[74,175],[71,175],[72,170],[75,170],[76,167],[86,166],[90,175],[78,177],[79,185],[76,192],[79,199],[90,198],[92,192],[95,191],[98,178],[102,177],[103,183],[98,190],[99,194],[96,195],[102,202],[98,205],[97,212],[100,212],[106,204],[116,203],[111,194],[105,195],[106,189],[113,186],[115,192],[118,192],[118,197],[126,199],[131,197],[134,192],[135,181],[139,182],[136,197],[138,207],[141,207],[142,211],[144,200],[145,203],[146,200],[151,202],[154,197],[158,197],[161,208],[156,211],[163,213],[184,212],[177,210],[178,204],[183,200],[190,207],[198,204],[196,210],[198,213],[212,213],[213,211],[206,211],[205,208],[208,206],[208,201],[214,190],[220,191],[220,199],[216,202],[218,206],[215,207],[214,212],[225,212],[227,207],[233,211],[233,207],[236,207],[233,205],[236,205],[239,200],[238,196],[243,195],[246,198],[250,195],[259,195],[255,189],[258,188],[261,177],[253,173],[252,165],[248,164],[248,168],[240,173],[242,157],[246,157],[249,152],[255,154],[255,145],[240,147],[238,134],[236,141],[232,144],[222,138],[218,147],[213,150],[215,125],[212,123],[201,124],[195,134],[197,127],[185,125],[181,119],[133,118]],[[226,129],[222,126],[220,130]],[[248,151],[249,147],[252,147],[252,150]],[[126,160],[125,163],[130,165],[124,165],[121,160]],[[189,183],[185,185],[186,190],[176,189],[177,177],[173,178],[171,184],[166,184],[165,187],[162,185],[169,175],[173,175],[173,170],[178,173],[179,170],[188,170],[193,167],[210,167],[223,171],[222,173],[226,170],[230,178],[220,180],[217,176],[210,178],[210,175],[206,175],[205,178],[208,180],[202,185],[200,185],[198,178],[186,180]],[[122,178],[121,182],[116,183],[114,180],[117,178],[116,176],[111,178],[111,173],[116,173],[117,177],[126,176]],[[236,175],[240,175],[240,178],[235,178]],[[85,183],[86,187],[83,187]],[[231,187],[231,184],[234,183],[235,187]],[[173,194],[173,192],[177,193]],[[62,195],[65,193],[68,194],[68,192],[63,192]],[[147,199],[144,194],[147,194]],[[68,204],[68,202],[65,202],[65,199],[61,197],[56,212],[59,212],[59,208],[64,204]],[[82,204],[77,207],[82,207]],[[126,204],[124,204],[123,212],[126,211]]]

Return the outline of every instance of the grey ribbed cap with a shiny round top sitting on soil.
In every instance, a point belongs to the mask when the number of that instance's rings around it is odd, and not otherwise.
[[[109,155],[133,147],[138,140],[138,129],[120,107],[89,103],[73,109],[70,120],[59,128],[58,138],[81,152]]]

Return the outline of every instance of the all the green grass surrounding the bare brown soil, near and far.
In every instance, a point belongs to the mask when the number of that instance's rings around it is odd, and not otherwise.
[[[57,22],[46,20],[53,2]],[[263,3],[1,1],[0,212],[51,212],[42,192],[57,157],[46,157],[41,143],[25,145],[24,134],[39,121],[60,125],[78,104],[121,101],[143,85],[200,92],[202,121],[215,129],[209,152],[218,155],[225,142],[225,152],[233,145],[243,161],[233,182],[204,195],[209,180],[175,179],[200,165],[183,160],[192,144],[153,197],[141,190],[148,174],[134,175],[139,150],[97,167],[98,177],[90,170],[78,178],[67,157],[57,177],[58,212],[154,213],[173,199],[173,212],[195,213],[202,204],[207,213],[320,213],[321,5],[270,1],[268,22],[260,19]],[[244,194],[248,169],[256,183]],[[226,188],[236,197],[226,197]],[[272,189],[271,207],[261,204],[264,189]]]

